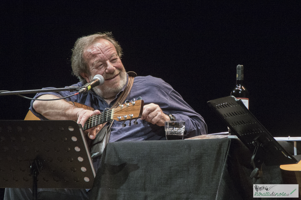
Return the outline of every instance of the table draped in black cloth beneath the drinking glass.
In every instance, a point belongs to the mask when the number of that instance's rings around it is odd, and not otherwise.
[[[293,145],[281,142],[293,153]],[[253,199],[251,153],[239,139],[108,143],[90,199]],[[263,184],[296,184],[263,166]],[[272,198],[269,198],[271,200]]]

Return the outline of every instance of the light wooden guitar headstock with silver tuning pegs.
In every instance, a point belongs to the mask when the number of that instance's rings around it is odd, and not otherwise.
[[[116,121],[130,121],[129,126],[131,126],[130,123],[132,120],[136,120],[134,121],[134,124],[137,124],[137,119],[141,118],[144,106],[142,98],[138,97],[138,99],[139,100],[133,99],[131,102],[126,100],[124,104],[113,109],[113,119]],[[123,122],[122,126],[125,127],[126,124]]]

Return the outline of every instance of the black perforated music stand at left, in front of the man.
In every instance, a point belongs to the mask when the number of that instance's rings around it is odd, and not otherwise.
[[[88,145],[75,121],[0,120],[0,187],[91,189]],[[35,198],[35,197],[34,197]]]

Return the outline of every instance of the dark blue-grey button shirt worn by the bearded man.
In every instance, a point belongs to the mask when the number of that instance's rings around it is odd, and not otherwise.
[[[81,87],[81,82],[73,85]],[[125,87],[123,88],[123,90]],[[123,91],[122,90],[122,91]],[[101,97],[90,90],[86,93],[75,95],[67,98],[68,101],[78,102],[90,106],[94,109],[98,109],[101,112],[105,108],[111,108],[119,95],[108,105]],[[52,94],[57,97],[66,97],[76,92],[61,91],[61,92],[42,92],[36,94],[35,98],[43,94]],[[200,114],[195,112],[169,84],[162,79],[152,76],[137,76],[134,79],[133,87],[127,96],[130,102],[133,98],[142,97],[144,105],[154,103],[160,106],[162,111],[169,115],[175,116],[177,121],[185,121],[184,137],[193,137],[202,134],[207,134],[207,125]],[[30,110],[40,119],[46,118],[37,113],[33,109],[33,101],[31,102]],[[138,119],[138,125],[122,127],[122,122],[114,121],[111,127],[110,141],[131,141],[131,140],[166,140],[164,127],[160,127],[155,124],[151,124],[145,120]],[[128,121],[126,122],[128,124]]]

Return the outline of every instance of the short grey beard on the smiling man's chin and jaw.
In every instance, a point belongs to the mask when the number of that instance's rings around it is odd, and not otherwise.
[[[126,71],[120,71],[120,82],[119,86],[116,88],[106,87],[101,90],[101,85],[93,88],[93,91],[103,99],[114,99],[116,95],[122,90],[122,88],[126,85]]]

